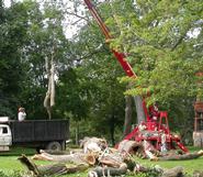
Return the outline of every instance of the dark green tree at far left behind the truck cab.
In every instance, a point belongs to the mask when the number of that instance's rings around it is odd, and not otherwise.
[[[27,32],[26,10],[21,3],[0,3],[0,114],[16,117],[24,78],[21,49]]]

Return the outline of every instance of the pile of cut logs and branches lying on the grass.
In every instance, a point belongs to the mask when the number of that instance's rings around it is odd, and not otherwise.
[[[105,140],[86,137],[83,141],[81,141],[81,147],[82,151],[70,152],[69,154],[63,152],[56,154],[54,152],[41,151],[41,154],[34,155],[31,159],[25,155],[22,155],[19,157],[19,161],[25,165],[26,168],[36,177],[74,174],[77,172],[87,170],[90,167],[94,168],[91,168],[91,170],[88,173],[88,177],[122,176],[127,172],[133,174],[156,174],[160,177],[184,176],[182,167],[163,169],[159,166],[146,167],[135,162],[133,155],[136,155],[137,153],[147,157],[145,146],[142,143],[125,141],[120,144],[119,150],[112,150],[108,147]],[[168,154],[167,156],[158,156],[156,159],[193,159],[202,155],[203,151],[200,151],[198,153],[189,153],[183,155]],[[50,161],[54,162],[54,164],[40,166],[34,163],[36,159]]]

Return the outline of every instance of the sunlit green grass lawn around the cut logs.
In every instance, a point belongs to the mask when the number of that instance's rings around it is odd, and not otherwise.
[[[198,151],[198,148],[190,147],[190,151]],[[3,170],[5,174],[10,174],[13,170],[26,170],[26,168],[18,161],[18,157],[21,154],[31,156],[35,154],[35,151],[29,148],[13,148],[10,153],[0,153],[0,170]],[[172,168],[174,166],[182,166],[187,173],[191,174],[195,169],[202,170],[203,157],[191,161],[167,161],[167,162],[150,162],[148,159],[136,158],[143,165],[155,166],[159,165],[163,168]],[[36,161],[37,165],[47,164],[46,162]],[[79,173],[74,175],[65,175],[65,177],[84,177],[87,173]]]

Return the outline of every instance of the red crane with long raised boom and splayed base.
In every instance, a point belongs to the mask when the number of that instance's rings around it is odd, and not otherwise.
[[[99,27],[103,32],[105,40],[109,41],[112,38],[110,31],[105,23],[103,22],[102,18],[98,13],[97,9],[94,8],[91,0],[84,0],[86,5],[88,7],[91,15],[97,21]],[[111,48],[112,53],[114,54],[115,58],[119,60],[120,65],[123,67],[125,74],[128,77],[136,78],[136,74],[133,71],[132,66],[126,59],[126,55],[124,53],[120,53],[114,48]],[[137,142],[147,141],[154,145],[157,151],[161,150],[161,139],[165,135],[166,146],[167,150],[172,150],[178,145],[180,150],[183,152],[188,152],[188,148],[181,143],[179,136],[173,135],[170,133],[169,123],[168,123],[168,113],[166,111],[153,110],[155,114],[157,114],[158,120],[153,121],[149,114],[149,109],[153,107],[146,106],[145,99],[143,98],[143,110],[145,113],[146,120],[137,125],[129,134],[127,134],[124,140],[134,140]],[[151,110],[150,110],[151,111]]]

